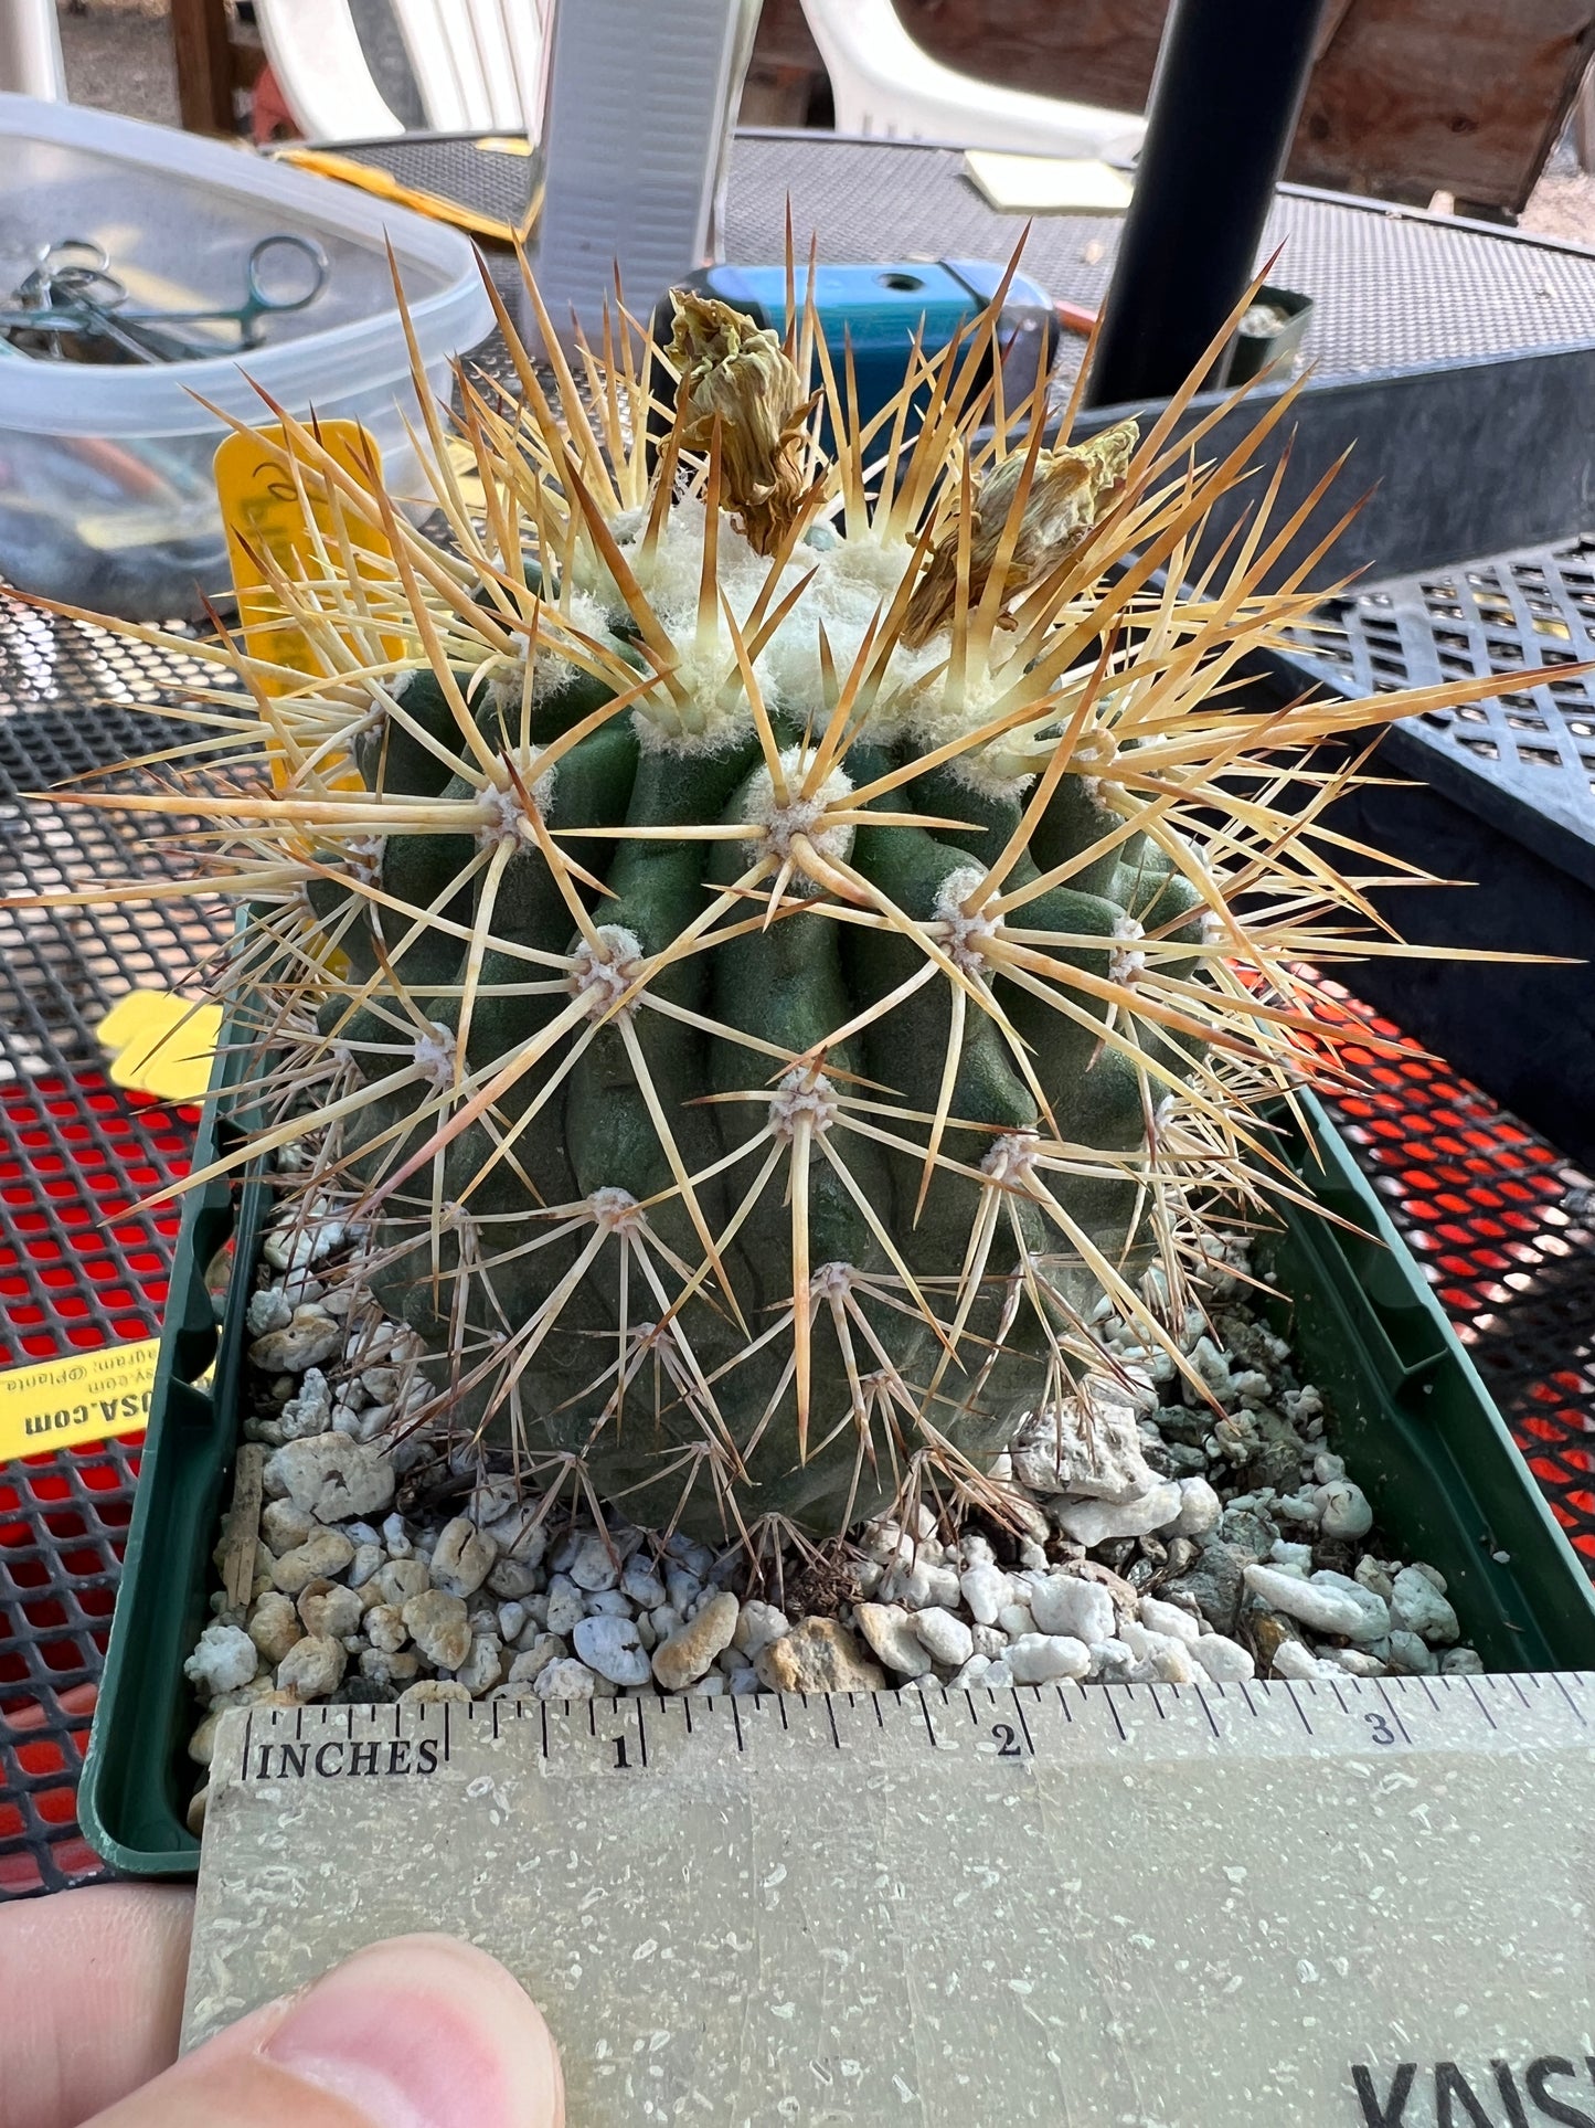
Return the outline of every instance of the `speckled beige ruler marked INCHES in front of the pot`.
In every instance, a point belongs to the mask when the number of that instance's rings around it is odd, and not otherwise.
[[[196,2043],[410,1928],[570,2119],[1595,2128],[1595,1677],[262,1709]]]

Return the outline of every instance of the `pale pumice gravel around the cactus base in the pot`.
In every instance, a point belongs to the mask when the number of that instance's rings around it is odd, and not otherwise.
[[[266,1502],[251,1598],[211,1598],[185,1666],[196,1764],[238,1696],[423,1705],[1482,1670],[1442,1575],[1387,1556],[1357,1473],[1325,1441],[1323,1398],[1223,1270],[1208,1317],[1191,1309],[1180,1328],[1223,1415],[1104,1302],[1095,1334],[1116,1373],[1021,1426],[993,1470],[1002,1522],[946,1524],[921,1504],[863,1524],[827,1566],[825,1605],[804,1609],[789,1594],[808,1579],[797,1553],[785,1583],[749,1583],[734,1551],[572,1519],[517,1490],[506,1460],[417,1428],[415,1334],[349,1287],[338,1258],[351,1247],[336,1215],[279,1226],[249,1300],[245,1436],[268,1449]]]

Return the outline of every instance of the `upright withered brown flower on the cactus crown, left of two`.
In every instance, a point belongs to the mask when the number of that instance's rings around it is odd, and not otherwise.
[[[744,311],[691,289],[674,289],[670,300],[670,360],[687,409],[683,443],[706,451],[719,415],[725,500],[749,545],[774,553],[806,496],[804,381],[778,334]]]

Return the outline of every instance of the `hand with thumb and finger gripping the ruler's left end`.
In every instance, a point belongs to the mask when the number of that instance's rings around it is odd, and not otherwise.
[[[4,2128],[564,2128],[549,2028],[485,1951],[400,1936],[177,2062],[194,1898],[0,1907]]]

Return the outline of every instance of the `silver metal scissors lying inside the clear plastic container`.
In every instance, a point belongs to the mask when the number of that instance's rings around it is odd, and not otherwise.
[[[298,294],[274,294],[266,285],[268,262],[283,253],[310,266],[308,285]],[[0,334],[43,334],[57,362],[70,360],[62,347],[64,334],[106,338],[136,362],[194,362],[221,349],[215,340],[183,332],[185,326],[232,326],[238,349],[259,347],[264,321],[304,311],[325,289],[330,272],[328,255],[315,238],[279,230],[251,245],[240,304],[217,311],[134,311],[128,287],[111,272],[104,247],[85,236],[68,236],[36,253],[32,272],[13,292],[15,309],[0,311]]]

